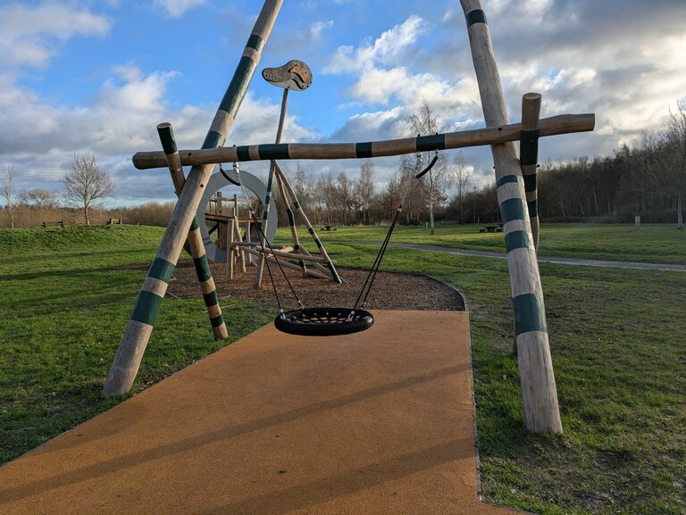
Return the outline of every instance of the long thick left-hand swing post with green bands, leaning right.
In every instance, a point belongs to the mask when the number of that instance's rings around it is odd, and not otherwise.
[[[282,0],[265,0],[262,11],[255,21],[255,27],[248,37],[247,46],[238,62],[238,67],[214,115],[203,148],[215,148],[224,144],[238,108],[246,96],[250,80],[255,74],[264,43],[272,31],[281,4]],[[140,361],[146,351],[171,274],[179,260],[183,243],[188,237],[197,206],[200,204],[213,168],[213,164],[199,165],[191,168],[188,173],[186,184],[171,213],[171,219],[155,260],[138,294],[136,305],[114,356],[112,367],[105,380],[103,395],[125,394],[130,390],[138,374]]]

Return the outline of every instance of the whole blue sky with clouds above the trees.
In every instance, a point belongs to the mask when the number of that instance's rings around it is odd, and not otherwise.
[[[659,129],[686,96],[684,0],[482,0],[510,120],[522,95],[541,117],[594,112],[592,133],[544,138],[540,161],[612,154]],[[174,198],[169,172],[136,170],[171,122],[199,148],[262,7],[259,0],[69,0],[0,4],[0,166],[15,191],[55,193],[74,154],[114,180],[109,206]],[[289,95],[283,142],[407,137],[425,101],[442,131],[485,127],[457,0],[284,0],[226,145],[273,143],[281,92],[259,71],[307,62]],[[464,150],[473,184],[494,180],[488,147]],[[314,178],[360,163],[303,161]],[[383,187],[397,158],[374,160]],[[283,162],[295,170],[295,162]],[[265,163],[242,169],[266,174]],[[188,170],[187,170],[188,171]]]

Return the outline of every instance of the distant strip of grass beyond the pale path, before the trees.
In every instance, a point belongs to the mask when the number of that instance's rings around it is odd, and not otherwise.
[[[398,226],[392,241],[423,245],[505,253],[502,233],[479,232],[482,225],[437,223],[431,236],[423,226]],[[339,227],[335,231],[317,228],[324,241],[378,241],[388,227]],[[280,232],[284,238],[286,232]],[[303,241],[309,236],[299,233]],[[542,224],[541,256],[556,256],[609,261],[686,264],[686,231],[673,225],[643,224],[640,229],[628,224]]]

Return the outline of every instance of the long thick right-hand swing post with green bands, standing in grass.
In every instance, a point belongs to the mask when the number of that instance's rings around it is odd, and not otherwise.
[[[460,2],[467,21],[486,126],[502,126],[508,123],[508,116],[481,0]],[[524,421],[534,433],[561,433],[562,422],[548,344],[539,265],[531,237],[531,222],[517,149],[514,143],[508,142],[491,145],[491,152],[496,165],[498,204],[515,308]]]

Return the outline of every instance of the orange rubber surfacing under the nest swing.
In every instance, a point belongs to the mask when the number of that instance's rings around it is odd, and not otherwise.
[[[515,513],[477,501],[468,314],[374,316],[255,331],[5,465],[0,513]]]

